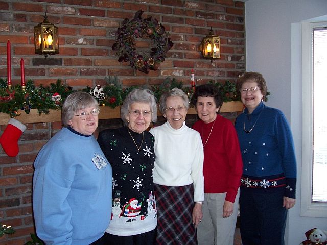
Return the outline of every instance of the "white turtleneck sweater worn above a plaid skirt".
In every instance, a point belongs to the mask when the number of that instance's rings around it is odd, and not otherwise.
[[[194,202],[204,200],[203,145],[200,134],[183,123],[152,128],[156,160],[153,182],[166,186],[194,185]]]

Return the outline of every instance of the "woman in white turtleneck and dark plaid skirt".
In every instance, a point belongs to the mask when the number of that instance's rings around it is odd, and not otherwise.
[[[185,125],[188,108],[188,96],[182,90],[168,91],[159,103],[167,122],[150,130],[155,138],[153,182],[159,245],[197,244],[196,227],[204,200],[203,146],[200,134]]]

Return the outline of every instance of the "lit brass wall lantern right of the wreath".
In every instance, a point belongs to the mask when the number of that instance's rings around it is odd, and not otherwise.
[[[203,58],[219,59],[220,58],[220,37],[212,34],[213,29],[210,28],[209,35],[205,36],[200,44],[200,50]]]

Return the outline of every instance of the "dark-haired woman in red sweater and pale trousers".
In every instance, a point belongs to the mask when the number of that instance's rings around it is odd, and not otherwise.
[[[237,221],[242,157],[232,122],[220,115],[222,96],[213,84],[196,87],[192,97],[204,150],[203,218],[197,228],[198,244],[233,244]]]

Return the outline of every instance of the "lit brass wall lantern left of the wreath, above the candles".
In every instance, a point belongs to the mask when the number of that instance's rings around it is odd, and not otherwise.
[[[59,53],[58,27],[50,23],[46,12],[44,20],[34,27],[35,54],[48,55]]]

